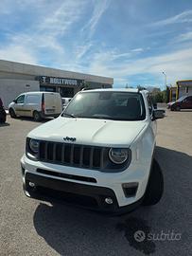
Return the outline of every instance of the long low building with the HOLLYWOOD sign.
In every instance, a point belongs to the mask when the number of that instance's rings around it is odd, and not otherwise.
[[[82,88],[110,88],[113,78],[0,60],[0,98],[5,107],[27,91],[59,92],[71,98]]]

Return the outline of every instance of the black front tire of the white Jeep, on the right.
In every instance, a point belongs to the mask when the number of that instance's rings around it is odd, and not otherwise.
[[[143,201],[144,206],[156,205],[164,192],[164,176],[159,163],[153,159],[151,172],[148,178],[148,187]]]

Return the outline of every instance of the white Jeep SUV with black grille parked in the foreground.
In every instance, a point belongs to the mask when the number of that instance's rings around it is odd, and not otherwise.
[[[24,192],[113,213],[158,203],[164,179],[154,150],[162,118],[147,91],[79,92],[58,119],[27,135]]]

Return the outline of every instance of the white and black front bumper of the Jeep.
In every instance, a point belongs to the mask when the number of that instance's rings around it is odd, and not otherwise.
[[[107,174],[33,161],[26,155],[22,157],[21,165],[24,191],[27,196],[49,202],[59,200],[88,209],[117,214],[131,211],[139,206],[148,184],[148,173],[137,170],[136,167],[134,169],[133,166],[129,172]],[[46,172],[42,174],[38,170]],[[29,182],[34,183],[35,188],[29,186]],[[124,183],[137,183],[135,194],[127,197],[122,188]],[[107,204],[106,198],[111,198],[113,204]]]

